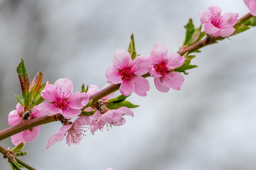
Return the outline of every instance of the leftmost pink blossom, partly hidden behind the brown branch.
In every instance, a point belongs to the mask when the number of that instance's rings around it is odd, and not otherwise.
[[[18,103],[16,105],[16,110],[13,110],[9,113],[9,116],[8,116],[8,124],[9,125],[14,126],[19,123],[21,117],[18,114],[18,112],[23,113],[22,110],[23,110],[22,106]],[[44,114],[41,113],[40,110],[38,110],[38,106],[34,106],[33,111],[28,119],[33,119],[33,118],[42,117],[42,116],[44,116]],[[29,129],[24,130],[15,135],[12,135],[11,142],[17,146],[21,142],[23,144],[25,144],[26,142],[34,141],[36,139],[36,137],[39,135],[39,132],[40,132],[40,126],[36,126],[30,130]]]

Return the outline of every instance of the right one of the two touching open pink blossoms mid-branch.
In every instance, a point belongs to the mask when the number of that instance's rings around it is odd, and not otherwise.
[[[155,43],[150,53],[151,63],[148,66],[148,73],[154,78],[157,90],[168,92],[170,88],[180,90],[184,82],[181,73],[173,68],[180,67],[184,63],[185,57],[178,53],[167,55],[167,48],[162,43]]]

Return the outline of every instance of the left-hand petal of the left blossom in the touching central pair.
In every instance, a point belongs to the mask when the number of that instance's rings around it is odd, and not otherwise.
[[[106,70],[107,82],[110,84],[119,84],[122,82],[122,76],[116,66],[109,66]]]

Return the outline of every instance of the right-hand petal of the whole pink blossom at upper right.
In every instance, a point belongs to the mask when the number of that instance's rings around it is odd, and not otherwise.
[[[238,21],[238,13],[227,12],[222,15],[222,24],[219,25],[219,28],[229,28],[230,26],[234,26]]]

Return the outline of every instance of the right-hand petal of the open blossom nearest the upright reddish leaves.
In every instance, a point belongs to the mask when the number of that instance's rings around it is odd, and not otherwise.
[[[75,92],[69,97],[69,108],[81,109],[86,106],[89,101],[89,96],[86,93]]]

